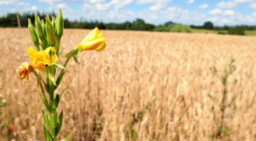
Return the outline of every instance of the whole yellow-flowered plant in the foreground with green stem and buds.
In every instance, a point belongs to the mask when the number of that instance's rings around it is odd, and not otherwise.
[[[35,27],[33,26],[30,19],[28,19],[28,29],[33,41],[34,47],[29,47],[27,50],[31,64],[28,62],[23,62],[18,70],[18,76],[25,81],[29,80],[31,72],[37,78],[37,87],[41,88],[41,93],[39,95],[45,105],[45,109],[49,114],[41,109],[43,119],[44,119],[44,137],[45,141],[55,141],[58,135],[63,119],[63,111],[58,115],[56,109],[61,94],[55,93],[55,90],[59,86],[65,72],[67,69],[68,61],[74,58],[77,61],[78,53],[83,50],[96,50],[101,51],[106,48],[106,38],[103,38],[103,34],[96,27],[92,30],[73,50],[69,51],[64,57],[66,61],[64,65],[61,65],[58,60],[60,59],[60,40],[63,35],[64,20],[62,17],[61,10],[57,17],[52,17],[50,20],[48,14],[45,20],[40,20],[38,16],[35,15]],[[60,68],[60,73],[56,76],[56,69]],[[42,74],[45,74],[45,79],[43,79]],[[48,98],[45,95],[45,91],[48,93]],[[49,99],[49,100],[48,100]],[[70,134],[67,135],[68,139]]]

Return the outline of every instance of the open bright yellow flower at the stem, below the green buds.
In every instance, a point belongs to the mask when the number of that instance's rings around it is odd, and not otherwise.
[[[40,50],[37,52],[32,47],[29,47],[27,50],[28,56],[32,62],[32,65],[36,69],[43,72],[46,70],[46,67],[53,65],[58,60],[58,56],[56,54],[54,54],[52,58],[50,57],[49,55],[50,51],[55,52],[55,48],[48,47],[44,51]]]

